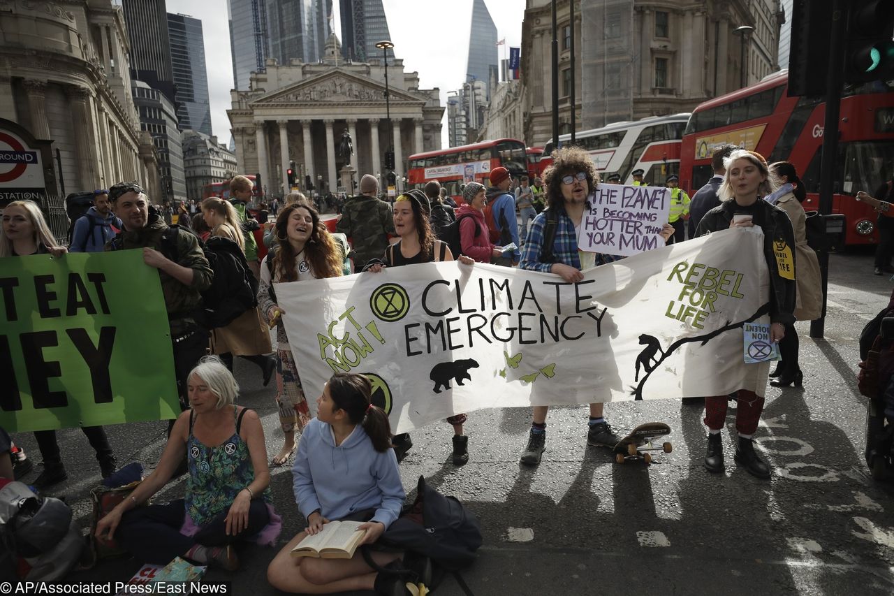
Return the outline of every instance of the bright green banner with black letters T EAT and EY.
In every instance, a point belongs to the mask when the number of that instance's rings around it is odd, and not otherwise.
[[[0,259],[0,426],[175,418],[164,298],[142,251]]]

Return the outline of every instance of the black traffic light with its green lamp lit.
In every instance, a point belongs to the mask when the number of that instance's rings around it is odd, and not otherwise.
[[[894,75],[894,3],[857,0],[848,10],[844,81],[880,81]]]

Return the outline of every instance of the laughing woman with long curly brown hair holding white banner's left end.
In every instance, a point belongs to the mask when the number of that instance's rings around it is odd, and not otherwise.
[[[274,234],[278,245],[261,263],[261,281],[257,304],[267,322],[276,328],[276,403],[285,442],[271,464],[285,464],[295,452],[295,430],[302,430],[310,421],[310,408],[301,387],[298,367],[291,354],[289,338],[280,315],[283,308],[276,303],[274,282],[299,282],[307,279],[342,275],[342,249],[313,206],[293,203],[276,217]]]

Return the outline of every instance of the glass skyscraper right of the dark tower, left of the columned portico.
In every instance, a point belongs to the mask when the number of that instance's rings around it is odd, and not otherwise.
[[[211,132],[208,76],[202,21],[185,14],[168,13],[171,66],[176,85],[177,121],[181,131]]]

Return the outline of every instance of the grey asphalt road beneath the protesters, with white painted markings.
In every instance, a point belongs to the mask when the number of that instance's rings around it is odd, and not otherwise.
[[[415,447],[401,464],[404,485],[420,474],[465,502],[481,520],[485,544],[462,573],[468,593],[486,594],[844,594],[889,595],[894,590],[894,482],[873,481],[863,461],[865,400],[856,390],[857,337],[887,303],[894,281],[872,275],[868,252],[831,258],[825,337],[798,324],[804,389],[770,387],[755,438],[772,464],[760,481],[732,464],[734,410],[723,433],[728,468],[702,467],[705,429],[699,406],[677,400],[611,404],[617,430],[667,421],[673,452],[651,466],[618,465],[604,449],[586,447],[586,406],[550,413],[547,451],[535,469],[519,466],[527,439],[527,409],[484,410],[469,417],[469,463],[450,463],[451,428],[435,424],[413,433]],[[237,361],[240,403],[262,416],[267,450],[280,447],[272,388]],[[164,445],[164,422],[108,429],[121,464],[154,465]],[[89,489],[99,470],[79,430],[59,433],[70,480],[55,487],[89,524]],[[39,459],[33,438],[19,435]],[[36,472],[26,481],[36,476]],[[164,497],[181,496],[175,481]],[[291,473],[273,475],[277,509],[285,518],[281,542],[302,526],[291,495]],[[239,573],[210,571],[207,581],[230,582],[231,593],[275,593],[266,583],[274,549],[241,553]],[[128,579],[139,565],[106,560],[70,582]],[[437,591],[463,594],[447,577]]]

